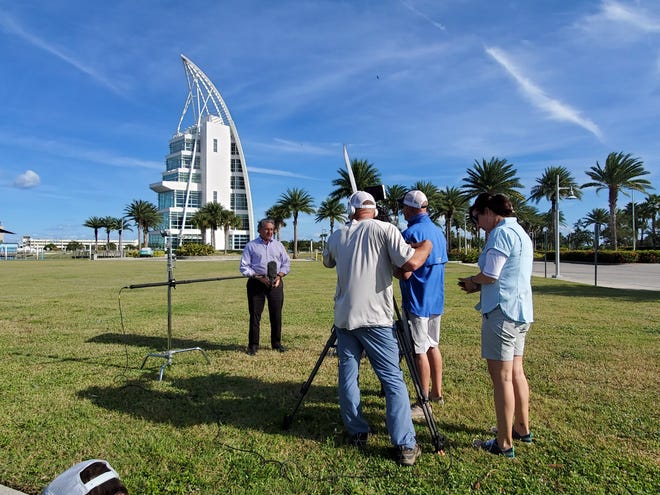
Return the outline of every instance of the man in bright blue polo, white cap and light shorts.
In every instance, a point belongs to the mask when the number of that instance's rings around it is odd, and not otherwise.
[[[403,231],[406,242],[429,240],[433,244],[424,265],[414,272],[399,272],[396,275],[401,280],[403,307],[410,322],[420,385],[424,393],[430,393],[428,398],[432,403],[443,405],[442,354],[438,344],[445,304],[447,241],[440,227],[429,217],[429,202],[422,191],[408,191],[399,203],[408,221],[408,228]],[[420,404],[414,404],[411,413],[413,419],[424,418]]]

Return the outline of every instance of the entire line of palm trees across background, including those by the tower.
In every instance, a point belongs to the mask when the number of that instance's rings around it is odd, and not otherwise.
[[[353,175],[358,189],[382,183],[381,173],[373,163],[364,159],[353,159],[351,161]],[[293,223],[293,257],[298,257],[298,219],[300,214],[315,215],[315,221],[329,221],[330,233],[334,231],[336,223],[347,220],[345,199],[352,194],[351,181],[348,172],[344,169],[337,170],[338,177],[332,181],[335,189],[328,198],[323,200],[318,208],[314,204],[314,198],[304,189],[293,187],[282,193],[276,203],[266,210],[267,217],[275,221],[275,232],[280,236],[280,230],[286,226],[286,221],[292,219]],[[530,233],[533,238],[539,237],[543,232],[554,234],[554,218],[558,201],[569,196],[577,199],[582,198],[582,190],[595,188],[596,191],[606,190],[608,194],[608,210],[595,208],[584,218],[578,220],[573,232],[573,242],[576,249],[588,244],[590,234],[586,228],[593,225],[607,226],[601,235],[608,247],[617,250],[620,231],[628,234],[628,225],[633,222],[632,210],[634,210],[635,231],[630,232],[633,239],[637,240],[640,235],[639,245],[656,247],[658,234],[657,224],[660,210],[660,199],[657,194],[650,194],[654,189],[651,182],[644,178],[649,172],[644,168],[641,159],[633,157],[630,153],[612,152],[604,166],[598,162],[586,170],[590,181],[578,184],[569,169],[563,166],[548,166],[536,179],[536,183],[530,190],[530,195],[525,198],[520,192],[523,185],[515,165],[504,158],[492,157],[489,160],[483,158],[475,160],[471,168],[466,170],[460,187],[446,186],[439,188],[430,181],[417,181],[409,187],[394,184],[386,186],[386,199],[379,203],[379,209],[385,220],[398,222],[399,203],[398,200],[410,189],[419,189],[426,194],[429,200],[429,214],[433,221],[441,224],[444,219],[445,235],[448,245],[452,244],[452,228],[458,235],[460,229],[468,227],[465,217],[470,201],[475,196],[487,192],[491,194],[502,193],[509,196],[514,204],[519,222]],[[557,195],[557,190],[559,194]],[[620,194],[628,195],[628,192],[638,191],[646,194],[646,199],[640,203],[629,203],[624,210],[618,208]],[[572,196],[571,196],[572,195]],[[539,212],[530,203],[538,204],[542,199],[550,202],[551,208],[547,212]],[[119,234],[119,249],[121,251],[122,232],[131,230],[131,219],[138,228],[138,239],[143,239],[143,245],[147,245],[148,232],[160,226],[162,218],[158,208],[151,202],[134,200],[125,208],[123,218],[114,217],[90,217],[84,226],[94,229],[96,247],[98,247],[99,230],[105,229],[108,243],[110,232],[117,231]],[[621,223],[625,219],[625,224]],[[212,243],[215,247],[215,231],[222,228],[225,233],[225,252],[227,251],[229,230],[241,226],[241,219],[236,214],[224,208],[218,203],[207,203],[197,210],[191,217],[190,223],[202,232],[205,238],[207,230],[211,230]],[[563,215],[560,214],[560,225],[565,225]],[[469,228],[472,228],[470,225]],[[544,228],[546,229],[544,231]],[[644,234],[647,237],[644,238]],[[628,236],[626,236],[628,237]],[[550,237],[554,238],[554,235]],[[592,239],[592,238],[591,238]]]

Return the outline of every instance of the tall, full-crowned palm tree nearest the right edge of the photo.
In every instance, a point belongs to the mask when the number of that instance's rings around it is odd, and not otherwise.
[[[587,170],[587,175],[592,182],[582,184],[582,187],[595,187],[596,192],[601,189],[608,190],[608,205],[610,207],[610,231],[612,232],[612,241],[614,250],[617,250],[616,236],[616,203],[619,197],[619,191],[622,189],[634,189],[645,193],[647,189],[653,189],[651,182],[647,179],[640,179],[642,175],[648,175],[648,170],[644,169],[644,163],[639,158],[633,158],[632,154],[623,152],[610,153],[605,160],[605,166],[601,167],[598,162],[594,167]],[[624,193],[625,194],[625,193]]]

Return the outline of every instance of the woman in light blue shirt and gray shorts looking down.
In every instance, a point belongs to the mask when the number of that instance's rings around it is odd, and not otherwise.
[[[480,272],[459,279],[459,285],[467,293],[480,292],[476,309],[482,314],[481,356],[488,363],[497,416],[497,437],[477,440],[475,446],[514,457],[513,440],[532,442],[523,350],[534,318],[534,250],[506,196],[480,194],[470,207],[470,218],[487,240],[479,256]]]

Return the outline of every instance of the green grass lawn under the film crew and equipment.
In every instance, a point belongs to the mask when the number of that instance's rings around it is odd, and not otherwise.
[[[237,269],[181,260],[174,272],[190,280]],[[434,412],[449,448],[431,453],[420,423],[424,454],[402,468],[368,365],[363,407],[376,435],[365,451],[342,443],[334,357],[282,429],[330,332],[335,274],[320,263],[293,263],[286,278],[286,354],[268,349],[267,325],[264,349],[244,353],[243,280],[176,287],[172,347],[200,346],[211,364],[177,354],[159,382],[162,359],[140,366],[167,349],[167,289],[120,289],[165,281],[164,259],[0,262],[0,483],[37,494],[98,457],[133,495],[660,492],[658,293],[534,279],[526,370],[536,441],[507,460],[471,446],[495,424],[476,296],[455,286],[473,272],[447,268],[447,402]]]

